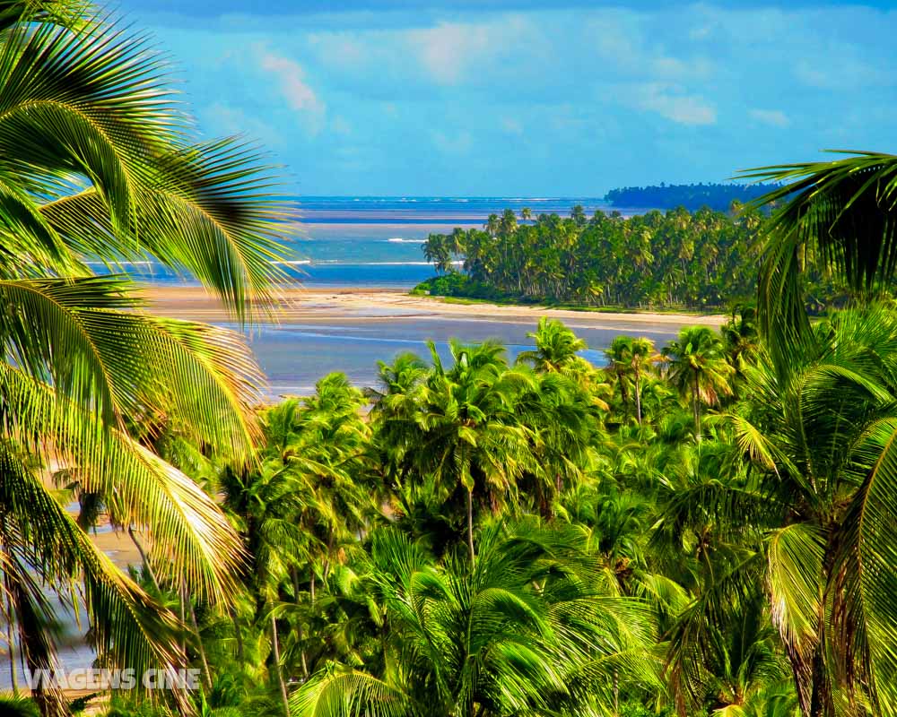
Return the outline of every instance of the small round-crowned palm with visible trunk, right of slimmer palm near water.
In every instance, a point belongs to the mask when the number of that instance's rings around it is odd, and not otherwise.
[[[701,440],[701,404],[718,402],[729,395],[733,368],[726,361],[722,342],[706,326],[686,327],[662,352],[666,378],[684,400],[692,403],[694,436]]]

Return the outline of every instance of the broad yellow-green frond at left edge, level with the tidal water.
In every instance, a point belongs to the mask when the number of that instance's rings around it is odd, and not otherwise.
[[[225,454],[249,454],[260,372],[226,329],[136,312],[114,277],[0,281],[0,341],[16,363],[65,398],[125,417],[170,419]]]

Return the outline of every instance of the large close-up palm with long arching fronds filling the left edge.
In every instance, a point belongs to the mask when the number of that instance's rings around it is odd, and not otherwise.
[[[103,664],[176,668],[183,626],[93,547],[39,469],[61,462],[113,525],[144,532],[161,580],[225,600],[237,536],[128,427],[170,421],[209,451],[245,459],[260,375],[237,334],[146,315],[129,281],[93,277],[86,260],[115,269],[153,257],[193,273],[246,320],[277,276],[287,212],[259,194],[271,178],[256,151],[188,140],[143,39],[83,4],[0,9],[2,592],[32,670],[49,669],[55,652],[39,583],[67,600],[83,590]],[[65,713],[57,690],[35,697],[42,713]]]

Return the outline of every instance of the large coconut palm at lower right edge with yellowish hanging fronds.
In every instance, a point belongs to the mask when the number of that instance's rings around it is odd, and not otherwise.
[[[783,350],[764,351],[745,372],[729,421],[751,463],[747,482],[717,469],[722,479],[700,499],[677,497],[678,517],[663,524],[710,521],[746,540],[742,566],[718,576],[701,619],[765,585],[802,713],[893,715],[897,319],[883,307],[841,312],[809,345],[811,355],[791,344],[784,364]]]

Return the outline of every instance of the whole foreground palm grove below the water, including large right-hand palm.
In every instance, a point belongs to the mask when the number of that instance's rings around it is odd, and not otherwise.
[[[890,607],[864,604],[865,648],[840,613],[888,570],[858,544],[890,519],[867,492],[893,471],[891,307],[818,324],[784,375],[750,307],[618,337],[603,367],[560,322],[532,338],[514,364],[489,342],[401,355],[365,393],[326,376],[263,412],[255,469],[165,441],[248,552],[239,600],[184,608],[205,708],[863,714],[873,673],[890,694],[857,652],[890,649]]]

